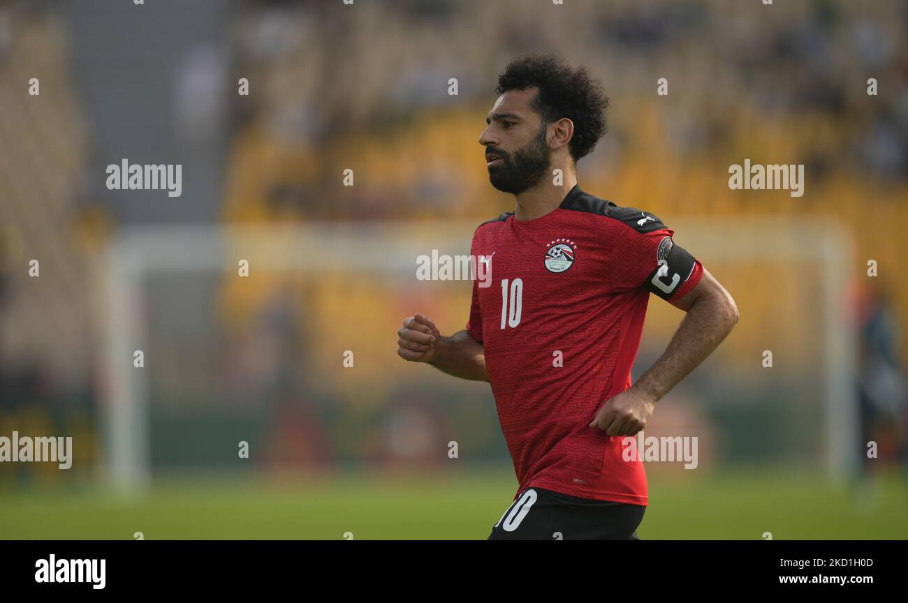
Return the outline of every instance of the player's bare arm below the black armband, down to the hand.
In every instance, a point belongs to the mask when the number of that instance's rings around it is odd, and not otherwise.
[[[590,427],[608,435],[634,435],[646,427],[656,402],[706,360],[738,321],[735,300],[706,268],[696,287],[668,303],[686,312],[656,364],[637,383],[607,400]]]

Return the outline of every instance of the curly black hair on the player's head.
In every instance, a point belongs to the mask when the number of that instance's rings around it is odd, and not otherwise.
[[[538,94],[531,106],[542,123],[548,125],[563,117],[574,122],[568,151],[575,162],[586,157],[608,130],[608,97],[602,83],[592,79],[586,67],[573,69],[557,54],[528,53],[513,59],[498,75],[495,93],[532,86],[538,88]]]

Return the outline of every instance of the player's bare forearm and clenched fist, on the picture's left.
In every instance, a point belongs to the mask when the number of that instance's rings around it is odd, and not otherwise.
[[[489,381],[485,348],[469,331],[441,336],[435,323],[419,313],[405,318],[398,330],[398,355],[410,362],[428,363],[461,379]]]

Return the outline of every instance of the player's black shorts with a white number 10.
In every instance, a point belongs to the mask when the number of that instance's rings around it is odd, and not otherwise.
[[[639,540],[646,507],[593,501],[528,488],[512,502],[488,540]]]

